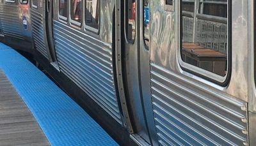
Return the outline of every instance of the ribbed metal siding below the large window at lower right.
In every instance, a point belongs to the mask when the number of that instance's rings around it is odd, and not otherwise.
[[[246,103],[204,90],[154,63],[150,72],[160,145],[243,145],[248,141]]]

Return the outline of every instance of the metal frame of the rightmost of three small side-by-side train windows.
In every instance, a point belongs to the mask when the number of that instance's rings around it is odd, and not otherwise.
[[[87,0],[84,0],[84,4],[83,4],[83,24],[84,24],[84,31],[91,31],[92,33],[95,33],[95,34],[99,34],[100,33],[100,10],[101,10],[101,0],[99,0],[99,27],[98,29],[95,29],[94,27],[92,26],[88,26],[86,24],[86,1]]]

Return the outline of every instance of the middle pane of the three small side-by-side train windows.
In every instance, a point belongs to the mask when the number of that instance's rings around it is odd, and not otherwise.
[[[71,19],[81,23],[82,0],[71,1]]]

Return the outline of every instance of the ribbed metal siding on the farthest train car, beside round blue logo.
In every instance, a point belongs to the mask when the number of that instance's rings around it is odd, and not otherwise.
[[[15,4],[0,4],[1,26],[5,36],[23,39],[20,30],[18,6]]]

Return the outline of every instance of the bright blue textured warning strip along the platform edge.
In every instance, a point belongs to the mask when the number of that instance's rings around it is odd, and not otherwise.
[[[0,69],[51,145],[118,145],[44,73],[3,43],[0,43]]]

